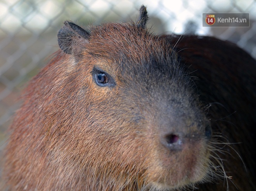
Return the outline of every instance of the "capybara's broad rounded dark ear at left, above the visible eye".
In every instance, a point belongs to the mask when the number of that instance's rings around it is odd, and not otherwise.
[[[77,48],[75,46],[79,45],[81,38],[88,42],[90,33],[73,22],[65,21],[64,24],[58,33],[58,44],[63,52],[71,54]]]

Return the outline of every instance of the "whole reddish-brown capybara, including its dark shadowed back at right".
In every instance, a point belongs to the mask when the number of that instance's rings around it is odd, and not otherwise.
[[[147,19],[64,22],[10,126],[6,190],[256,190],[256,61]]]

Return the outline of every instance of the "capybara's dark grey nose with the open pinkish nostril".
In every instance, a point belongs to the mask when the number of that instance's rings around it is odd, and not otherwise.
[[[198,115],[176,114],[176,117],[161,115],[157,121],[159,140],[168,150],[182,150],[184,144],[193,145],[197,141],[211,139],[212,132],[209,122]]]

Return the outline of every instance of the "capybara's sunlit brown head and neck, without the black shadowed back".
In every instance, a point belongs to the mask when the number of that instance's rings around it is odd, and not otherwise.
[[[14,119],[16,185],[160,191],[208,180],[209,120],[173,45],[146,22],[144,6],[136,23],[64,22],[61,51]]]

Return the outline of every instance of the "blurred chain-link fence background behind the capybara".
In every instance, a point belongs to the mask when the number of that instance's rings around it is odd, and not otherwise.
[[[0,150],[31,77],[58,50],[65,20],[88,24],[135,20],[146,5],[147,27],[156,34],[199,34],[230,40],[256,58],[256,0],[0,0]],[[246,12],[250,27],[202,27],[202,13]]]

